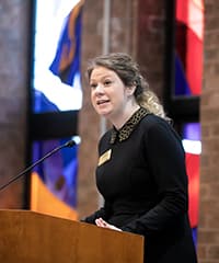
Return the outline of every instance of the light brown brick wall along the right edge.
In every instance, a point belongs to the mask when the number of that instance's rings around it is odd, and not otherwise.
[[[204,81],[200,104],[201,167],[199,263],[219,262],[219,2],[205,1]]]

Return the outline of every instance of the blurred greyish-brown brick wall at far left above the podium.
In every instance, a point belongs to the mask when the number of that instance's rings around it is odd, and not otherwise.
[[[0,185],[24,167],[30,1],[0,2]],[[23,206],[23,180],[0,192],[0,208]]]

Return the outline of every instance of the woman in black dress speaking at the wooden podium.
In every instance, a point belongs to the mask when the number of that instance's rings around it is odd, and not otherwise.
[[[195,263],[181,139],[139,68],[122,53],[88,69],[93,107],[113,127],[101,138],[96,185],[104,206],[83,219],[145,237],[147,263]]]

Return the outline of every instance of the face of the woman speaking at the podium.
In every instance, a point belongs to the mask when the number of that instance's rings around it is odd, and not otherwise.
[[[100,115],[111,118],[123,113],[127,89],[115,71],[104,67],[94,68],[90,87],[91,102]]]

